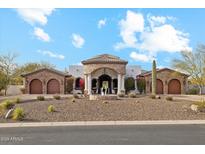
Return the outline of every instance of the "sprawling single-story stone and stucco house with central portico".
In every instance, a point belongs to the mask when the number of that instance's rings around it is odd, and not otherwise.
[[[25,91],[28,94],[65,94],[66,80],[74,77],[73,92],[81,91],[80,81],[84,81],[84,91],[100,94],[103,84],[108,86],[108,94],[125,91],[125,79],[134,79],[134,91],[138,92],[137,77],[146,80],[146,93],[150,93],[151,72],[142,73],[141,67],[127,65],[117,56],[102,54],[83,60],[82,65],[69,66],[69,74],[55,69],[43,68],[23,74]],[[157,70],[158,94],[183,94],[187,85],[186,74],[164,68]]]

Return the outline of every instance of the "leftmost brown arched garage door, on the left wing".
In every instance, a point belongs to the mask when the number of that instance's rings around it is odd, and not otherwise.
[[[30,83],[30,94],[42,94],[43,86],[42,82],[38,79],[34,79]]]

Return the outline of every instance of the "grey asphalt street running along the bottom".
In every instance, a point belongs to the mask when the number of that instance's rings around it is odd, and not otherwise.
[[[205,125],[0,128],[0,144],[205,144]]]

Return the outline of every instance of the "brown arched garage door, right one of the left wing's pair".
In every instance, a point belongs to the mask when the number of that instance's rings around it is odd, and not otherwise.
[[[59,94],[60,93],[60,83],[56,79],[51,79],[47,84],[48,94]]]

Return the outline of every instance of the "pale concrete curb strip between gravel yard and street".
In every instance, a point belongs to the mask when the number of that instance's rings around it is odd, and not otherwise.
[[[0,128],[50,127],[50,126],[108,126],[108,125],[199,125],[205,120],[156,120],[156,121],[76,121],[76,122],[21,122],[1,123]]]

